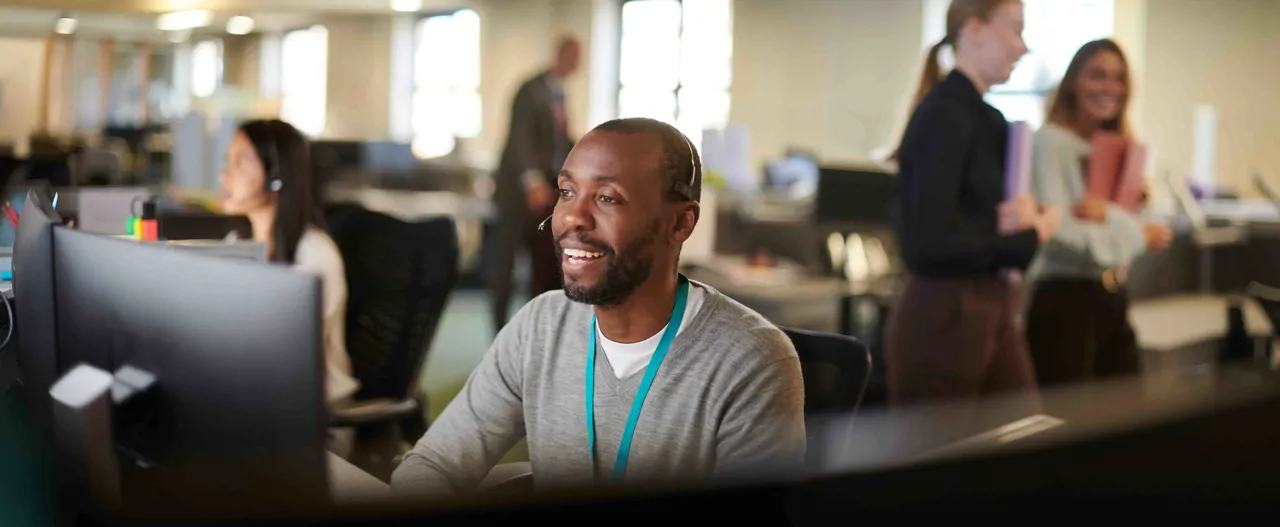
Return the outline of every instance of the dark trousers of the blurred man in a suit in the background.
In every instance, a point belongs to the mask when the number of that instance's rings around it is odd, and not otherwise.
[[[559,289],[562,285],[558,255],[556,255],[556,247],[552,244],[550,225],[548,224],[544,230],[538,230],[538,225],[550,214],[552,207],[544,211],[535,211],[535,214],[507,214],[503,211],[502,221],[498,226],[498,243],[495,244],[494,258],[492,261],[492,274],[489,275],[493,330],[495,334],[502,326],[507,325],[507,315],[511,311],[512,274],[516,266],[516,255],[521,247],[529,249],[530,266],[532,267],[529,283],[529,298]]]

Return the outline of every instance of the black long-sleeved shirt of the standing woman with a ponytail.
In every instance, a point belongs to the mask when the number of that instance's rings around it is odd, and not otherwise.
[[[1005,116],[960,72],[920,101],[899,151],[897,235],[913,274],[988,275],[1030,265],[1036,230],[996,229],[1007,133]]]

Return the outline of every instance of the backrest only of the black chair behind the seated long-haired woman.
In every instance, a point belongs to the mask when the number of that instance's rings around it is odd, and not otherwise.
[[[358,205],[337,205],[328,208],[326,221],[347,271],[347,353],[361,384],[355,399],[413,398],[458,280],[453,220],[411,224]]]

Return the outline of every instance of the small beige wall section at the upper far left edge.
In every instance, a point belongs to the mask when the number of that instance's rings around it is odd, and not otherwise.
[[[18,141],[36,129],[40,116],[40,72],[45,42],[0,38],[0,137]],[[24,141],[19,141],[24,142]]]

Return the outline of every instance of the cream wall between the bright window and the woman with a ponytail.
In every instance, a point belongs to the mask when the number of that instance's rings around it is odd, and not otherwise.
[[[787,147],[864,162],[896,143],[923,64],[920,0],[736,0],[730,120],[751,169]]]

